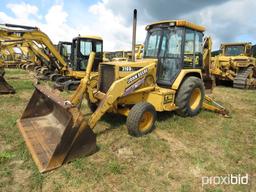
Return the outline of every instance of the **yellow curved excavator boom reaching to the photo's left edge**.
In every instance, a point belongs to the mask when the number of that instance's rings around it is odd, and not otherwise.
[[[63,73],[67,71],[67,63],[64,61],[50,38],[38,28],[33,28],[29,30],[14,30],[0,27],[0,35],[6,38],[23,38],[24,40],[36,41],[39,44],[43,44],[50,51],[51,55],[56,59],[56,61],[52,63],[52,65],[54,65],[53,67]]]

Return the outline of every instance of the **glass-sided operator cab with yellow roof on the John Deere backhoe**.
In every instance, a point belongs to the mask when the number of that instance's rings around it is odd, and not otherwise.
[[[146,27],[144,58],[157,58],[157,84],[169,87],[181,69],[203,68],[204,27],[187,21],[162,21]]]

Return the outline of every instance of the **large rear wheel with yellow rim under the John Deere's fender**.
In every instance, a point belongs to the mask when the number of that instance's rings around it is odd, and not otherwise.
[[[202,108],[205,96],[204,84],[198,77],[188,77],[181,84],[176,95],[176,113],[182,117],[193,117]]]

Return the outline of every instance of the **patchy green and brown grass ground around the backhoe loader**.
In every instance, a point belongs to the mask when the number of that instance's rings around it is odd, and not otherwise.
[[[17,94],[0,96],[0,191],[256,191],[255,185],[201,183],[202,176],[246,173],[255,183],[253,90],[214,90],[232,118],[208,111],[193,118],[159,113],[156,130],[142,138],[127,134],[125,118],[105,115],[95,128],[97,153],[40,174],[16,127],[33,93],[33,75],[8,69],[6,78]]]

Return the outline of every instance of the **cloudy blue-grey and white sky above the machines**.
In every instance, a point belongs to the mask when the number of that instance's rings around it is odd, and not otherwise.
[[[54,43],[98,35],[104,50],[130,50],[132,13],[138,10],[137,43],[149,23],[186,19],[206,27],[213,49],[222,42],[256,43],[255,0],[1,0],[0,23],[37,26]]]

